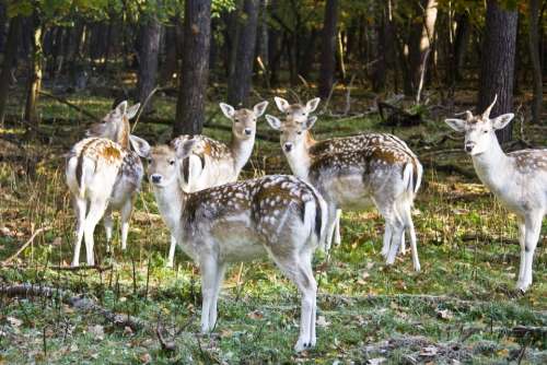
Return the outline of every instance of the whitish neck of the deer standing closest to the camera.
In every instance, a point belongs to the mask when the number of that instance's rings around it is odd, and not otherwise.
[[[181,189],[177,179],[166,186],[154,186],[153,189],[158,209],[172,235],[177,237],[181,233],[181,215],[186,203],[187,193]]]

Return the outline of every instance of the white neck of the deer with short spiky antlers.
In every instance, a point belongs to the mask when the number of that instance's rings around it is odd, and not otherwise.
[[[510,157],[501,150],[501,145],[492,133],[490,148],[481,154],[472,156],[473,165],[479,179],[492,191],[503,190],[512,172]]]

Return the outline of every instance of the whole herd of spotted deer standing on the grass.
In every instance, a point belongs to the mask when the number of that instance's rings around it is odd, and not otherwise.
[[[316,248],[339,245],[341,210],[375,207],[385,221],[382,255],[386,264],[405,252],[408,237],[414,269],[420,271],[412,204],[420,188],[422,166],[399,138],[362,133],[316,141],[312,114],[319,98],[305,105],[275,98],[281,118],[266,115],[280,132],[281,150],[294,176],[269,175],[238,181],[253,152],[257,119],[268,102],[252,109],[220,104],[232,121],[229,144],[205,136],[181,136],[168,145],[151,148],[130,133],[129,120],[140,105],[120,103],[91,127],[67,157],[66,178],[77,216],[72,266],[80,263],[82,239],[86,263],[95,264],[93,233],[103,219],[107,249],[113,234],[113,210],[120,212],[121,248],[126,249],[129,221],[144,176],[171,233],[167,266],[178,246],[199,264],[202,307],[201,331],[217,323],[217,302],[225,268],[232,262],[269,257],[302,295],[300,335],[294,346],[315,345],[317,284],[312,269]],[[532,284],[534,251],[547,214],[547,150],[505,154],[494,131],[513,118],[490,118],[486,111],[446,123],[465,133],[465,151],[480,180],[516,215],[521,263],[517,290]]]

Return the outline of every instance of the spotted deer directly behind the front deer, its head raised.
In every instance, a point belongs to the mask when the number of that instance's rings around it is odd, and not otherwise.
[[[232,140],[222,143],[205,136],[183,134],[171,144],[176,146],[187,140],[194,140],[194,150],[181,164],[181,185],[187,192],[234,182],[253,152],[256,134],[256,121],[260,118],[268,102],[256,104],[253,109],[235,109],[220,103],[223,115],[232,121]],[[175,258],[175,238],[171,237],[167,267],[173,267]]]

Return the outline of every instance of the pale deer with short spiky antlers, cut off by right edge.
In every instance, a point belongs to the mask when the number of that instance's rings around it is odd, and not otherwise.
[[[464,133],[464,150],[480,181],[516,215],[521,246],[516,290],[524,293],[532,285],[534,252],[547,214],[547,149],[504,153],[496,131],[505,128],[514,114],[490,118],[497,99],[498,95],[481,115],[466,110],[465,119],[449,118],[445,122]]]

